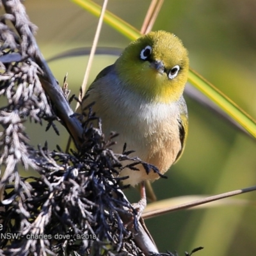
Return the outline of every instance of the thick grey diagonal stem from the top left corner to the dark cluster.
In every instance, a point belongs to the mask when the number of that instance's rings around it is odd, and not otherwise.
[[[13,17],[19,17],[20,20],[22,20],[22,22],[17,19],[13,20],[13,25],[17,29],[20,36],[24,35],[24,33],[26,33],[28,36],[30,44],[29,55],[35,59],[36,63],[44,71],[44,76],[40,77],[42,86],[54,104],[58,116],[63,121],[63,124],[65,124],[74,140],[79,143],[79,138],[81,138],[81,134],[83,132],[81,124],[75,117],[72,117],[74,112],[70,108],[67,99],[65,98],[59,84],[54,78],[49,66],[38,48],[38,45],[36,44],[35,37],[29,26],[29,19],[26,15],[24,6],[19,0],[3,0],[2,2],[6,13],[10,13],[13,15]]]

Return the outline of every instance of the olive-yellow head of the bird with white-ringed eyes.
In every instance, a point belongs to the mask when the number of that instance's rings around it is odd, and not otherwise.
[[[131,42],[115,63],[124,86],[163,103],[179,100],[188,68],[188,51],[177,36],[166,31],[153,31]]]

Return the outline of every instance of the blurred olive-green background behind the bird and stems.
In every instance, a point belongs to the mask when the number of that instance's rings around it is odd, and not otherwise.
[[[102,1],[95,1],[102,4]],[[149,0],[109,0],[108,10],[140,29]],[[25,6],[38,26],[36,39],[45,58],[60,52],[92,45],[97,18],[68,0],[27,0]],[[182,39],[189,51],[191,67],[211,81],[254,118],[256,117],[256,1],[255,0],[166,0],[154,30],[164,29]],[[124,48],[129,40],[104,24],[99,45]],[[113,56],[96,56],[90,81]],[[79,92],[88,58],[69,58],[50,63],[62,84]],[[181,195],[214,195],[256,183],[256,141],[220,116],[188,99],[189,135],[184,155],[172,166],[168,179],[154,182],[159,200]],[[30,125],[34,145],[49,142],[65,148],[67,132],[45,133]],[[128,191],[138,200],[134,189]],[[237,196],[255,200],[256,193]],[[146,224],[161,252],[179,255],[197,246],[195,255],[255,255],[256,209],[250,205],[225,205],[209,209],[179,211],[147,220]]]

